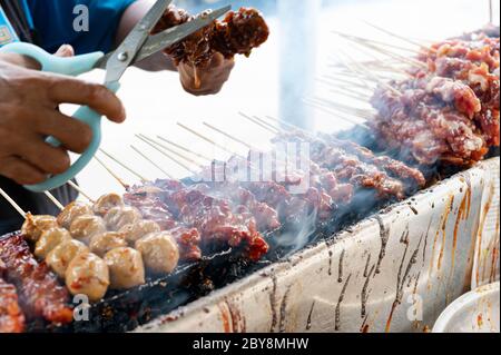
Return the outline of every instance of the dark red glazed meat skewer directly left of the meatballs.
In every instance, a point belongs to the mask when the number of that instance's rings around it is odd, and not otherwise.
[[[22,236],[0,240],[0,260],[6,265],[6,277],[19,293],[19,300],[28,319],[42,317],[49,323],[70,323],[66,287],[58,284],[45,263],[38,263]]]

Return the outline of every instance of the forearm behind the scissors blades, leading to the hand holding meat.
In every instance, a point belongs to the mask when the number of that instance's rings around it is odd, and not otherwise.
[[[137,22],[148,12],[155,3],[153,0],[138,0],[134,2],[121,17],[117,31],[117,43],[121,43],[127,34],[132,30]],[[136,65],[137,67],[148,71],[171,70],[177,71],[173,61],[164,53],[157,53]]]

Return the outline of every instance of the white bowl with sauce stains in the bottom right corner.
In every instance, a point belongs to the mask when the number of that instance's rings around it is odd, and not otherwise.
[[[500,333],[499,282],[458,298],[439,317],[433,333]]]

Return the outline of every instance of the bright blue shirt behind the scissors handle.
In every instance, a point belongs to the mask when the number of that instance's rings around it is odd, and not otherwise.
[[[40,46],[55,52],[61,45],[71,45],[77,55],[92,51],[108,52],[124,11],[135,0],[27,0]],[[85,4],[89,9],[89,31],[75,31],[78,14],[73,9]]]

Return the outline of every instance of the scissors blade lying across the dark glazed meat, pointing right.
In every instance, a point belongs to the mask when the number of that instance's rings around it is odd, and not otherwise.
[[[228,12],[232,9],[230,6],[224,7],[222,9],[215,10],[210,12],[209,14],[205,16],[204,18],[197,18],[193,21],[183,23],[177,27],[173,27],[170,29],[167,29],[160,33],[157,33],[155,36],[150,36],[145,45],[143,46],[139,53],[137,53],[136,58],[129,63],[134,65],[136,62],[139,62],[146,58],[151,57],[155,53],[158,53],[159,51],[163,51],[164,49],[179,42],[180,40],[185,39],[186,37],[195,33],[196,31],[203,29],[204,27],[209,26],[214,20],[218,19],[226,12]],[[114,53],[108,53],[105,56],[97,65],[97,69],[106,69],[107,63],[112,57]]]

